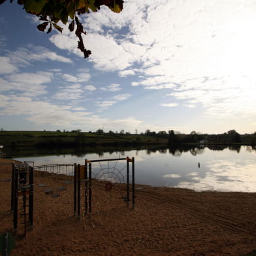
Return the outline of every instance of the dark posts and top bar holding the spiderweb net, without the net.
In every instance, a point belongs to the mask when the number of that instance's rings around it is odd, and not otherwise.
[[[77,215],[80,219],[80,198],[81,192],[80,188],[82,183],[84,183],[84,215],[91,215],[91,164],[95,162],[103,161],[123,161],[126,160],[126,197],[127,206],[129,206],[130,199],[130,174],[129,174],[129,163],[132,163],[132,208],[135,208],[135,158],[115,158],[115,159],[99,159],[99,160],[85,160],[85,165],[76,165],[74,168],[74,216]],[[97,178],[97,177],[96,177]]]

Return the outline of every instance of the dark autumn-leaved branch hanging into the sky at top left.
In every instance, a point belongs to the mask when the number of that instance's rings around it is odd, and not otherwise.
[[[7,0],[0,0],[0,5],[5,1]],[[106,5],[113,12],[123,10],[123,0],[18,0],[18,4],[23,6],[25,12],[39,17],[42,23],[37,28],[42,32],[46,28],[47,33],[50,33],[53,28],[62,32],[63,28],[57,24],[58,22],[69,24],[71,32],[74,31],[76,25],[75,34],[78,37],[78,49],[85,58],[89,57],[91,51],[84,47],[82,34],[86,35],[86,32],[78,20],[78,16],[90,11],[97,12],[101,5]]]

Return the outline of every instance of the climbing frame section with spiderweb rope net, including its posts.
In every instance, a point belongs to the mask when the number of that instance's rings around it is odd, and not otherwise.
[[[132,168],[130,170],[130,163]],[[76,187],[75,200],[74,200],[74,214],[80,218],[80,208],[84,210],[83,216],[91,216],[92,206],[95,212],[98,213],[99,204],[109,206],[111,200],[114,200],[113,195],[117,195],[118,191],[124,192],[122,197],[127,202],[132,201],[132,207],[135,207],[135,159],[129,157],[118,159],[98,159],[98,160],[85,160],[85,165],[78,165],[75,171]],[[126,184],[126,185],[123,185]],[[96,189],[102,187],[105,189]],[[107,193],[115,188],[115,193]],[[117,189],[116,189],[117,187]],[[94,192],[92,193],[92,190]],[[103,191],[105,192],[105,197]],[[81,196],[82,191],[82,196]],[[97,195],[97,193],[99,195]],[[101,191],[101,192],[99,192]],[[92,199],[93,194],[93,199]],[[111,195],[111,196],[110,196]],[[82,199],[82,206],[80,206],[80,199]]]

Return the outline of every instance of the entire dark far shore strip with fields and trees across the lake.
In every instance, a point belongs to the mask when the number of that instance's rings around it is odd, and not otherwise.
[[[235,130],[227,133],[208,135],[192,131],[189,134],[146,130],[145,133],[131,134],[109,131],[84,133],[80,129],[68,132],[57,131],[0,131],[0,145],[5,147],[95,147],[95,146],[172,146],[180,144],[256,144],[256,133],[240,135]]]

